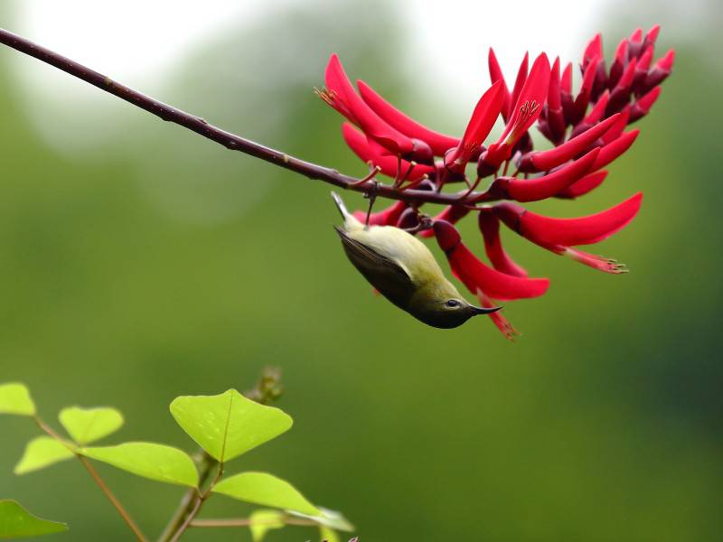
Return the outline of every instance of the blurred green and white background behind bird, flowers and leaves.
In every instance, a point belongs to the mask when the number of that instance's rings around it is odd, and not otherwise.
[[[0,380],[28,384],[50,420],[113,405],[127,425],[111,442],[191,451],[168,413],[175,396],[249,388],[280,366],[279,406],[296,424],[231,468],[292,481],[343,510],[362,541],[721,539],[718,2],[56,4],[3,3],[2,25],[359,174],[340,117],[311,91],[331,51],[413,116],[461,133],[488,46],[510,78],[524,47],[577,61],[598,30],[611,55],[635,26],[661,23],[659,51],[678,56],[641,137],[596,192],[537,206],[580,216],[643,190],[638,218],[598,248],[632,272],[606,276],[507,235],[552,278],[546,296],[508,307],[515,344],[483,319],[433,330],[373,296],[331,228],[327,185],[0,48]],[[68,521],[59,540],[127,540],[79,464],[12,475],[34,434],[0,419],[0,496]],[[100,468],[160,532],[183,490]],[[203,515],[248,511],[218,498]]]

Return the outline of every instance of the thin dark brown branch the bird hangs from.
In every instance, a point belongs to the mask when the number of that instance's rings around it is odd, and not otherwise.
[[[215,141],[232,151],[240,151],[244,154],[250,154],[251,156],[255,156],[268,162],[269,164],[274,164],[287,170],[291,170],[292,172],[300,173],[312,180],[328,182],[334,186],[343,188],[344,190],[368,193],[371,192],[374,184],[376,183],[373,180],[360,182],[360,179],[344,175],[334,169],[305,162],[304,160],[290,156],[289,154],[284,154],[267,146],[259,145],[258,143],[244,137],[240,137],[239,135],[231,134],[230,132],[227,132],[217,126],[209,124],[202,117],[196,117],[195,115],[186,113],[181,109],[176,109],[175,107],[166,105],[155,98],[146,96],[137,90],[131,89],[122,83],[110,79],[108,76],[103,75],[98,71],[90,70],[88,67],[83,66],[76,61],[71,61],[55,51],[45,49],[37,43],[26,40],[22,36],[2,28],[0,28],[0,42],[5,43],[5,45],[16,51],[23,52],[38,59],[39,61],[46,62],[59,70],[63,70],[73,77],[82,79],[101,90],[105,90],[106,92],[117,96],[117,98],[124,99],[136,107],[145,109],[149,113],[154,114],[156,117],[160,117],[168,122],[173,122],[178,126],[188,128],[189,130],[192,130],[192,132],[202,135],[207,139],[211,139],[211,141]],[[415,204],[460,204],[459,194],[443,194],[441,192],[420,190],[400,190],[398,187],[382,183],[377,183],[376,195],[381,198],[407,201],[408,203]],[[472,199],[476,193],[471,192],[467,195],[470,199]]]

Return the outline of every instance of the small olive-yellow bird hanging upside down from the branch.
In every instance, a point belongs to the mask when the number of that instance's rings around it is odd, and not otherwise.
[[[343,227],[334,226],[346,256],[380,294],[419,321],[436,328],[455,328],[477,314],[499,311],[465,301],[437,260],[418,238],[393,226],[362,224],[332,192]]]

